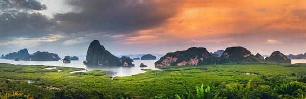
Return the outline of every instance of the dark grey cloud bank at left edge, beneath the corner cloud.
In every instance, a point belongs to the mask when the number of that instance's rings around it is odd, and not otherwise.
[[[0,30],[3,37],[44,36],[52,31],[49,29],[54,24],[54,22],[40,13],[18,12],[18,14],[3,13],[0,15]]]

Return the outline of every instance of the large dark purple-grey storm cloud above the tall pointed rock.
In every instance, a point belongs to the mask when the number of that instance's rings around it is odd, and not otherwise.
[[[56,29],[67,33],[129,33],[156,27],[175,15],[175,3],[159,2],[164,1],[69,0],[77,11],[54,14],[54,20],[61,22]]]

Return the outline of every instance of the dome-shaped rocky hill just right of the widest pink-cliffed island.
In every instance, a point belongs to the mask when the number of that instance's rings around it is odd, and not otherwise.
[[[252,53],[244,47],[229,47],[226,48],[224,53],[221,55],[221,58],[240,61],[251,55]]]

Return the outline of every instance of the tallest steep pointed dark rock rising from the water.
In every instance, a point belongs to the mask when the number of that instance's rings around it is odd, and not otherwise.
[[[105,50],[104,46],[98,40],[93,40],[87,50],[86,65],[102,65],[102,66],[122,66],[120,60]]]

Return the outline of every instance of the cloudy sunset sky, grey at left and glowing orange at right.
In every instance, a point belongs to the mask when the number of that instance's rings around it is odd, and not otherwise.
[[[115,55],[232,46],[304,54],[306,1],[0,0],[0,54],[86,55],[95,39]]]

